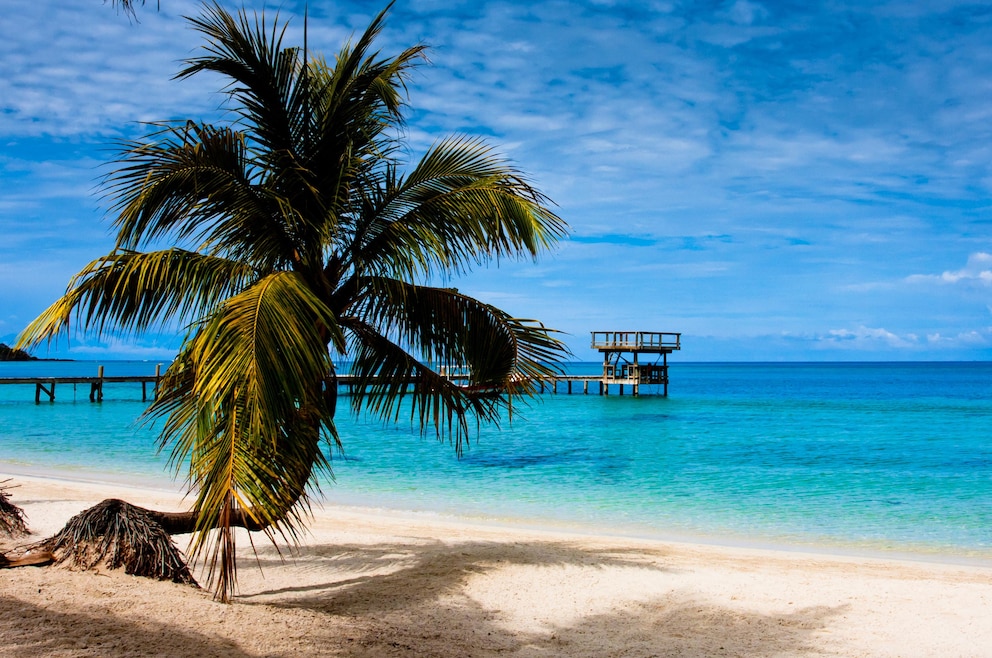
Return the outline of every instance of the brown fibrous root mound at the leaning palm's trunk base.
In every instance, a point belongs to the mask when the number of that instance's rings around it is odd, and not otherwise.
[[[58,534],[35,545],[72,569],[124,568],[135,576],[197,587],[183,554],[147,510],[108,499],[69,519]]]

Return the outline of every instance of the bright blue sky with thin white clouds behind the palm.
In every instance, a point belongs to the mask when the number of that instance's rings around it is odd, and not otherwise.
[[[382,6],[312,3],[311,48]],[[172,79],[198,7],[6,12],[0,341],[111,248],[115,140],[217,116],[218,80]],[[578,358],[597,358],[591,331],[647,330],[683,333],[673,361],[992,359],[992,6],[398,0],[380,45],[418,42],[412,153],[483,135],[572,228],[536,264],[451,284],[567,332]],[[70,345],[161,359],[176,339]]]

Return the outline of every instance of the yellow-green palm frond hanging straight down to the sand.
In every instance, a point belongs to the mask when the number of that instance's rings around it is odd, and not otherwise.
[[[188,464],[197,492],[191,552],[206,550],[219,591],[233,586],[232,518],[295,538],[314,469],[329,468],[321,452],[321,428],[336,437],[321,388],[331,369],[327,340],[343,339],[302,277],[271,274],[196,329],[149,409],[165,417],[161,440],[172,445],[173,465]]]

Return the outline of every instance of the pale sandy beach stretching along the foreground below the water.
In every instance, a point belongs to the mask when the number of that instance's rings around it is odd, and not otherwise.
[[[29,540],[105,497],[181,505],[8,477]],[[296,551],[256,539],[261,570],[245,536],[232,605],[122,572],[0,570],[0,655],[992,656],[989,567],[315,514]]]

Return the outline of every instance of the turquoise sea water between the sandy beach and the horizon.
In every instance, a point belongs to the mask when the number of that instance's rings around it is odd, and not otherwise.
[[[597,364],[575,364],[595,373]],[[108,363],[106,375],[154,363]],[[0,364],[0,377],[95,363]],[[331,502],[646,537],[992,560],[992,364],[679,364],[670,395],[546,394],[457,459],[341,415]],[[581,391],[581,385],[575,391]],[[591,387],[595,393],[596,385]],[[169,476],[137,384],[0,386],[0,470]]]

